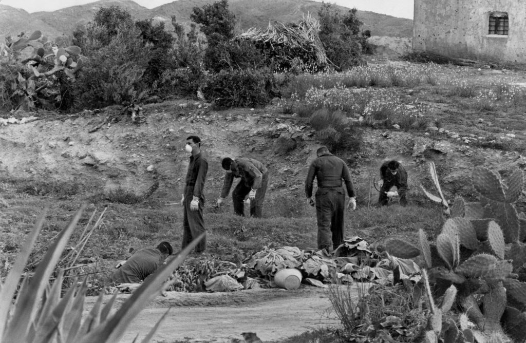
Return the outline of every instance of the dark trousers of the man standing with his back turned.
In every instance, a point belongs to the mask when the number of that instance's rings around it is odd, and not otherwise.
[[[332,251],[343,243],[345,191],[338,188],[318,188],[316,217],[318,219],[318,249]]]

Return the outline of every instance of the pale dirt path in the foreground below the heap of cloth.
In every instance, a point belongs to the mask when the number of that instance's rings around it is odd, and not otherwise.
[[[114,309],[127,297],[119,296]],[[261,289],[229,294],[168,292],[167,297],[156,298],[140,312],[120,342],[131,342],[137,335],[140,341],[169,307],[153,341],[230,343],[232,338],[242,339],[241,332],[256,332],[262,341],[279,341],[339,325],[327,290],[322,288],[302,286],[295,291]]]

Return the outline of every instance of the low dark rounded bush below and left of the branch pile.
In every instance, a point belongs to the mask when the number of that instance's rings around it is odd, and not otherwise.
[[[266,105],[274,88],[274,75],[268,69],[221,70],[210,77],[203,89],[217,108]]]

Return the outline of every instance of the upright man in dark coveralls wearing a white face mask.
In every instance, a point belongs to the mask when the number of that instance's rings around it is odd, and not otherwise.
[[[183,244],[184,249],[192,240],[205,232],[203,206],[205,205],[205,180],[208,162],[201,155],[201,139],[197,136],[186,138],[185,150],[190,153],[190,163],[185,179],[185,191],[181,199],[183,206]],[[203,253],[206,248],[206,237],[196,246],[196,253]]]

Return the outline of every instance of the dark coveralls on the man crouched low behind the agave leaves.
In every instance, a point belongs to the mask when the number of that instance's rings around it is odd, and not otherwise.
[[[163,262],[163,254],[159,249],[141,249],[113,272],[112,280],[119,284],[138,284],[154,273]]]

